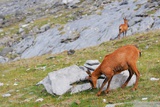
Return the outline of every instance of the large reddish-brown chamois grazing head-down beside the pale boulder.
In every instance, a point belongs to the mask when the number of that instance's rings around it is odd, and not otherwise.
[[[129,77],[121,87],[124,88],[130,81],[133,74],[135,74],[136,82],[132,90],[136,90],[140,78],[140,73],[136,66],[136,62],[139,56],[141,56],[141,52],[137,49],[136,46],[126,45],[115,50],[113,53],[106,55],[102,63],[93,71],[92,74],[89,71],[87,71],[87,73],[89,74],[87,79],[91,83],[92,88],[96,88],[97,79],[100,77],[100,75],[104,74],[106,76],[105,80],[103,81],[100,87],[99,92],[97,93],[97,96],[101,94],[102,88],[105,86],[107,82],[108,86],[105,90],[105,93],[108,93],[112,77],[115,74],[119,74],[124,70],[129,71]]]

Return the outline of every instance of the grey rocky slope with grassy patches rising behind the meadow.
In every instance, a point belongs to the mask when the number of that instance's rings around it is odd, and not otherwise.
[[[1,0],[0,62],[95,46],[160,28],[159,0]],[[121,35],[122,36],[122,35]]]

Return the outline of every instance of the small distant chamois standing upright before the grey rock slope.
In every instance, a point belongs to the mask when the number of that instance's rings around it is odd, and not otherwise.
[[[120,39],[121,33],[123,33],[123,36],[126,36],[127,30],[128,30],[128,20],[126,18],[123,18],[123,20],[124,20],[124,24],[121,24],[119,26],[119,34],[118,34],[119,39]]]

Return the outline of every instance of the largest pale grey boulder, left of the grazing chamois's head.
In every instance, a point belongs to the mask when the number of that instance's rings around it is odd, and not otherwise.
[[[87,73],[78,66],[73,65],[67,68],[53,71],[38,84],[43,84],[48,93],[62,95],[68,92],[73,83],[85,80]]]

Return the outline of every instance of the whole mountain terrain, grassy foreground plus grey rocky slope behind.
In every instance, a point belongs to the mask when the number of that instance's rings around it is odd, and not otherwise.
[[[159,0],[0,0],[0,9],[0,107],[159,107]],[[127,37],[117,39],[125,17]],[[36,86],[52,71],[101,62],[127,44],[142,52],[136,91],[53,96]]]

